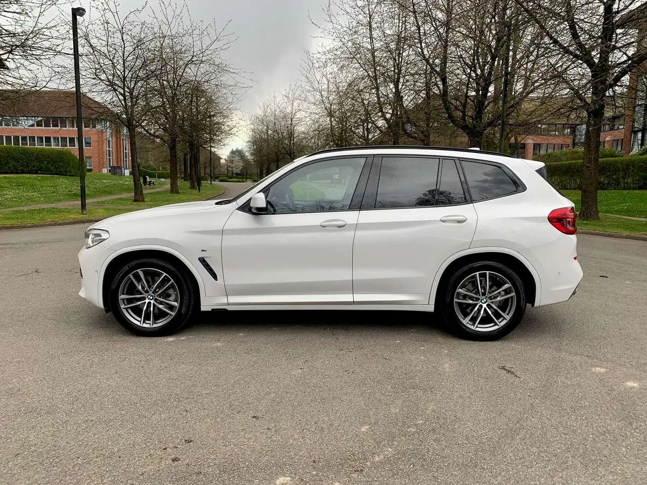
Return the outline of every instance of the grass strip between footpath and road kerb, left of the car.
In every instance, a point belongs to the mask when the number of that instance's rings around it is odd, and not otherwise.
[[[109,176],[111,177],[111,176]],[[203,182],[204,183],[204,182]],[[147,209],[151,207],[164,206],[167,204],[178,204],[179,202],[192,202],[205,200],[214,195],[222,193],[224,189],[219,185],[204,184],[201,192],[189,189],[189,182],[179,183],[179,194],[171,194],[167,190],[153,193],[146,193],[146,202],[133,202],[132,197],[104,200],[102,202],[89,203],[87,214],[83,215],[80,208],[47,208],[47,209],[21,209],[0,212],[0,226],[11,226],[15,224],[39,224],[42,222],[67,222],[83,221],[87,219],[105,219],[124,212]],[[119,192],[117,192],[119,193]]]

